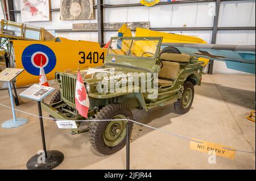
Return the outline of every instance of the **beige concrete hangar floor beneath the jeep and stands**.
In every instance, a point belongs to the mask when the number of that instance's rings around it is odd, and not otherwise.
[[[195,92],[185,115],[177,115],[169,105],[148,112],[135,110],[135,119],[185,137],[255,150],[255,123],[245,118],[255,110],[255,76],[203,75],[203,84]],[[37,113],[36,102],[21,100],[19,110]],[[0,91],[0,103],[10,106],[6,90]],[[0,113],[0,124],[12,117],[11,110],[1,106]],[[0,128],[0,169],[26,169],[28,159],[42,149],[38,118],[17,115],[30,121],[20,128]],[[72,136],[51,120],[44,120],[44,128],[47,149],[65,155],[56,169],[125,169],[125,149],[104,157],[92,149],[88,133]],[[132,140],[131,169],[255,169],[255,154],[237,152],[235,159],[217,157],[216,164],[209,164],[209,155],[189,149],[189,141],[141,125],[134,126]]]

